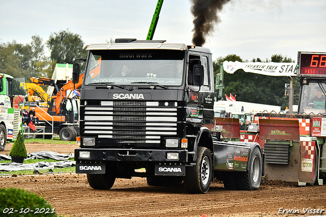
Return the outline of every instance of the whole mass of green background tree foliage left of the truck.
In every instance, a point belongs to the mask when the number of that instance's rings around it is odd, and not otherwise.
[[[45,56],[45,44],[37,35],[32,36],[32,41],[28,44],[20,44],[15,40],[11,43],[0,43],[0,73],[15,78],[25,77],[29,82],[31,77],[51,77],[57,63],[72,64],[76,57],[87,57],[86,47],[80,36],[68,30],[51,34],[47,45],[51,57]],[[83,70],[85,64],[80,67]]]

